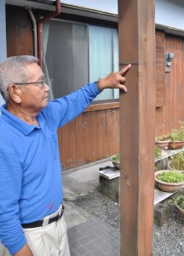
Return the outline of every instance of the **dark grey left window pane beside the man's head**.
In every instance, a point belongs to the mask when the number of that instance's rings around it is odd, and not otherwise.
[[[54,97],[65,96],[87,84],[87,26],[51,20],[46,64]]]

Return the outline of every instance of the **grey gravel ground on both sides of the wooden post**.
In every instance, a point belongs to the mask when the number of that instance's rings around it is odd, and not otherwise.
[[[108,224],[120,231],[119,205],[102,195],[98,189],[87,195],[79,196],[75,201],[92,216],[102,218]],[[170,218],[161,227],[154,224],[153,256],[183,256],[184,255],[184,219],[180,218],[173,201],[164,201],[169,207]]]

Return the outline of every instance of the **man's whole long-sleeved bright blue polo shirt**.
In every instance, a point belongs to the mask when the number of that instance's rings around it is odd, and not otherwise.
[[[55,212],[63,201],[57,129],[100,93],[95,83],[49,102],[28,125],[1,107],[0,240],[11,254],[26,244],[21,224]]]

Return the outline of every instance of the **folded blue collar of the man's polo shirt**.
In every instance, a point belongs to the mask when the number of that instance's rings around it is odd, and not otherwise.
[[[15,129],[19,130],[25,135],[31,133],[34,129],[40,129],[37,125],[29,125],[21,119],[17,118],[14,114],[10,113],[6,109],[6,103],[1,107],[2,115],[1,117],[9,123],[9,125],[14,126]]]

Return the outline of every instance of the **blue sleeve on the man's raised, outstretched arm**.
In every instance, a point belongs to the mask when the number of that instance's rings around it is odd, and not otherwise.
[[[68,96],[61,97],[50,103],[55,128],[58,129],[76,118],[89,107],[89,104],[101,93],[95,82],[83,86]]]

